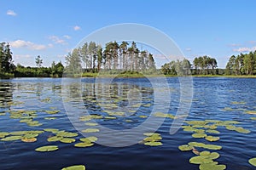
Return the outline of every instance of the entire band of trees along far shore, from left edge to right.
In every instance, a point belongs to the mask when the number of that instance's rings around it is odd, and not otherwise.
[[[65,57],[66,66],[61,61],[53,61],[49,67],[43,66],[40,55],[35,58],[36,66],[15,65],[8,42],[0,43],[0,77],[62,77],[63,73],[94,77],[100,71],[108,74],[149,74],[166,76],[252,76],[256,75],[256,51],[230,56],[225,69],[218,68],[217,59],[207,55],[188,59],[172,60],[157,69],[154,56],[147,50],[139,50],[136,42],[108,42],[102,45],[85,42],[74,48]],[[73,75],[69,75],[73,76]]]

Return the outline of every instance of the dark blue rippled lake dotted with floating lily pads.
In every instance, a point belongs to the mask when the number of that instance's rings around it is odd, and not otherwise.
[[[256,79],[191,80],[189,115],[176,119],[180,102],[189,101],[177,77],[0,80],[0,169],[199,169],[189,159],[205,150],[226,169],[255,168],[248,160],[256,157]],[[170,134],[178,119],[186,120]],[[90,136],[98,140],[78,147]],[[45,145],[58,150],[36,151]]]

